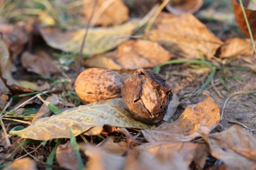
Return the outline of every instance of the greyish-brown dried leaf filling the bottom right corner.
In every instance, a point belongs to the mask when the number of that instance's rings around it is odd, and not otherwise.
[[[211,155],[222,160],[228,169],[255,169],[256,140],[242,127],[234,125],[226,131],[202,136]]]

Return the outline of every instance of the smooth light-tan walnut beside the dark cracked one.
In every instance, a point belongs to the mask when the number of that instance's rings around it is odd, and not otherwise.
[[[110,69],[90,68],[80,73],[74,89],[83,103],[121,97],[124,79]]]

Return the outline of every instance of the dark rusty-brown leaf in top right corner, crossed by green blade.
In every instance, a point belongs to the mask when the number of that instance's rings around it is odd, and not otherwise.
[[[246,18],[248,19],[250,29],[252,30],[253,38],[256,39],[256,4],[253,1],[242,0],[244,11],[246,13]],[[243,10],[241,8],[241,4],[239,0],[232,0],[234,14],[236,17],[236,22],[243,31],[243,33],[250,38],[250,34],[248,32],[248,27],[246,25],[246,21],[244,19]]]

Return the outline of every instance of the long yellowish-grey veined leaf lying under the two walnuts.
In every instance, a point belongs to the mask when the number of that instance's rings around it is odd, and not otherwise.
[[[60,115],[41,118],[26,129],[10,131],[10,134],[18,135],[21,138],[47,141],[55,138],[70,138],[69,128],[77,136],[89,131],[92,127],[102,127],[106,124],[138,129],[154,127],[154,125],[147,125],[134,120],[125,108],[121,98],[86,104],[64,111]]]

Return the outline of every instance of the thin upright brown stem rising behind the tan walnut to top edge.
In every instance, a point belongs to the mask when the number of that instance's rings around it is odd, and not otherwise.
[[[80,48],[80,52],[79,52],[79,59],[78,59],[78,73],[79,71],[81,70],[81,62],[82,62],[82,59],[83,59],[83,49],[84,49],[84,43],[85,43],[85,40],[86,40],[86,37],[87,37],[87,34],[88,34],[88,31],[89,31],[89,27],[90,27],[90,23],[92,22],[92,18],[93,18],[93,15],[94,15],[94,12],[95,12],[95,8],[96,8],[96,4],[98,3],[98,0],[95,0],[94,3],[93,3],[93,8],[92,8],[92,13],[90,15],[90,18],[89,18],[89,21],[88,21],[88,24],[86,25],[86,28],[85,28],[85,33],[84,33],[84,37],[83,37],[83,42],[82,42],[82,45],[81,45],[81,48]]]

